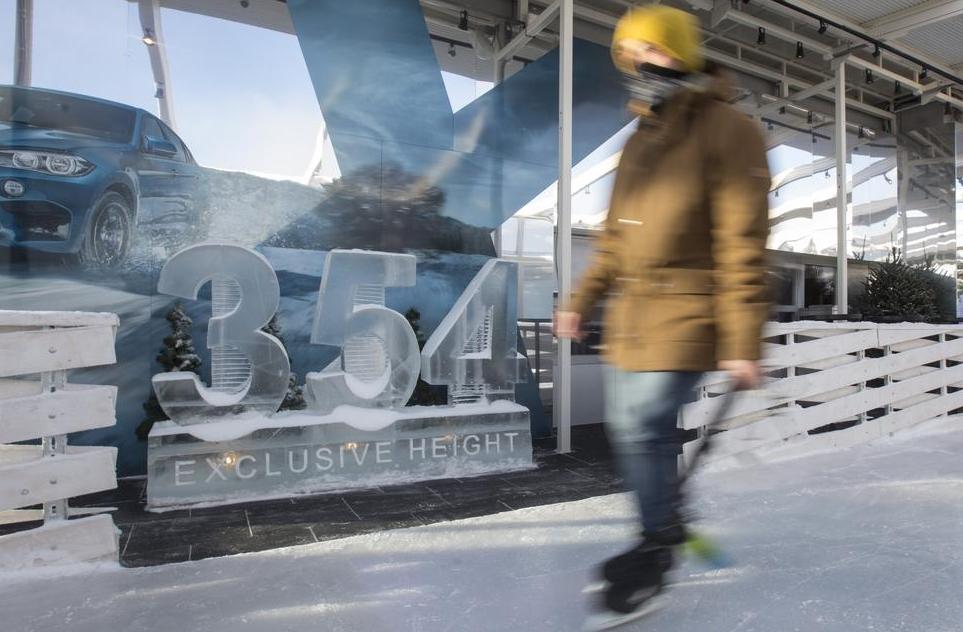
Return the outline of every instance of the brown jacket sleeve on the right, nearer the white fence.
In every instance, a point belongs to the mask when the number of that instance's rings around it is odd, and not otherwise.
[[[756,123],[729,110],[710,168],[712,254],[716,276],[717,358],[758,360],[769,309],[766,145]]]

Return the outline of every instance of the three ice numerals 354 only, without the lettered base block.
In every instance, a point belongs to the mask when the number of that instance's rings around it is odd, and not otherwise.
[[[487,262],[421,353],[405,317],[385,307],[385,288],[413,286],[416,264],[408,254],[328,253],[311,342],[339,347],[341,354],[306,376],[313,411],[403,407],[419,373],[429,384],[446,385],[452,405],[513,399],[525,371],[516,343],[515,264]],[[290,373],[284,347],[261,331],[278,309],[277,276],[253,250],[206,243],[171,257],[158,291],[196,299],[208,282],[214,313],[207,346],[215,386],[191,372],[160,373],[153,378],[158,401],[180,425],[245,411],[271,415],[284,399]]]

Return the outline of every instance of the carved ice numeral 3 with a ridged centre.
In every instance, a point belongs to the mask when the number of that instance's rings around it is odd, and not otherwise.
[[[207,329],[214,386],[191,372],[160,373],[153,377],[157,400],[178,424],[207,423],[247,410],[271,415],[284,399],[291,371],[284,347],[261,331],[278,309],[277,276],[253,250],[205,243],[171,257],[157,290],[196,299],[207,282],[214,285]]]

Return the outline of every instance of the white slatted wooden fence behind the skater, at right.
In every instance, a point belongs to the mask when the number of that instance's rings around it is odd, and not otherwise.
[[[963,325],[794,322],[765,335],[767,384],[740,394],[709,431],[706,461],[847,447],[963,408]],[[682,427],[705,434],[724,379],[706,379]]]

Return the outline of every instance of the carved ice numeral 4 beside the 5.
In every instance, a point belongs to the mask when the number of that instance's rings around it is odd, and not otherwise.
[[[514,263],[488,261],[459,297],[421,358],[421,377],[448,386],[450,404],[515,398],[524,356],[518,353]]]

